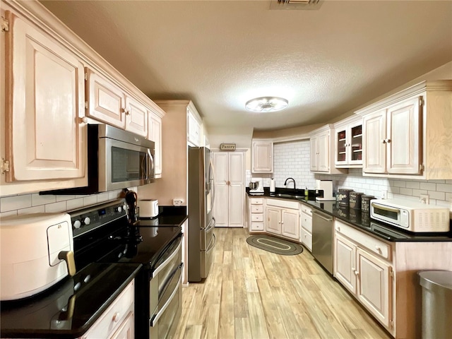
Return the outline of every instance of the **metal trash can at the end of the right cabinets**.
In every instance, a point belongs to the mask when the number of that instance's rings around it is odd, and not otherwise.
[[[422,339],[446,339],[452,335],[452,272],[423,270]]]

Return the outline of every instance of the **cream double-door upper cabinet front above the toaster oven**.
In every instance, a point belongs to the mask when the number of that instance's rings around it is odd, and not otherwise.
[[[422,174],[422,97],[364,117],[364,173]]]

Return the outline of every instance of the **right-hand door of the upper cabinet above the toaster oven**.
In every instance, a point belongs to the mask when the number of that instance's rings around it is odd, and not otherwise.
[[[420,97],[413,97],[388,109],[386,159],[389,174],[421,174],[420,102]]]

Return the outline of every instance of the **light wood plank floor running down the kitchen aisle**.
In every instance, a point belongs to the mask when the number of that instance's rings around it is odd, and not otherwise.
[[[242,228],[215,236],[208,278],[183,288],[176,338],[391,338],[307,249],[272,254]]]

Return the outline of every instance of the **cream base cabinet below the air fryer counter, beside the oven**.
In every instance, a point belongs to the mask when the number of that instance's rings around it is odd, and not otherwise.
[[[134,338],[134,286],[132,280],[81,339]]]

